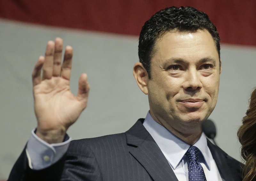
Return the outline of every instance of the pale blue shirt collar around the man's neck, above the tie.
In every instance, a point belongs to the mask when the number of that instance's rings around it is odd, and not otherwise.
[[[151,117],[149,111],[143,122],[143,126],[156,141],[156,144],[161,149],[173,169],[175,169],[179,165],[182,157],[185,155],[190,145],[172,134],[162,125],[158,124]],[[201,137],[198,141],[196,141],[194,146],[196,146],[201,151],[204,157],[203,161],[210,170],[209,149],[207,147],[207,139],[204,133],[202,133]]]

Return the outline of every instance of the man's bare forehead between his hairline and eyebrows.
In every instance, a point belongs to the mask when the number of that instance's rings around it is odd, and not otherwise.
[[[190,61],[204,57],[219,60],[214,40],[207,30],[197,30],[195,32],[172,30],[157,38],[151,61],[154,63],[155,59],[159,62],[171,58]]]

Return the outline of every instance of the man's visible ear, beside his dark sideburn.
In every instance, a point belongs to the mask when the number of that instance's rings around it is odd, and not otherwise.
[[[137,62],[133,66],[133,76],[144,94],[148,94],[148,72],[144,66]]]

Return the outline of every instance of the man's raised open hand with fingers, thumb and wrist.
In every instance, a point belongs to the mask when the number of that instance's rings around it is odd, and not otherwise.
[[[32,73],[36,134],[48,143],[63,141],[68,127],[86,107],[90,89],[87,75],[81,74],[77,96],[71,93],[69,79],[73,50],[66,47],[61,65],[62,49],[62,39],[56,38],[55,43],[49,41],[45,57],[39,57]]]

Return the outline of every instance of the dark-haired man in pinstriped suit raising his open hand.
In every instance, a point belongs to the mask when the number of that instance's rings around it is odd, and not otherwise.
[[[150,110],[122,134],[69,142],[67,129],[86,107],[90,86],[82,74],[72,95],[72,47],[61,66],[62,45],[49,41],[36,62],[38,125],[9,180],[242,180],[243,165],[201,129],[216,105],[221,72],[219,34],[205,13],[170,7],[142,27],[133,75]]]

